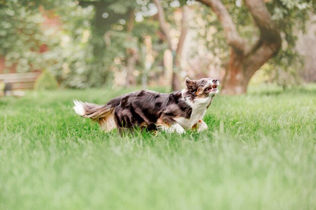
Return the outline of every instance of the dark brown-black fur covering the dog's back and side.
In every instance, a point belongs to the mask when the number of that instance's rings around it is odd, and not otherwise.
[[[185,102],[181,91],[170,94],[153,91],[135,91],[112,99],[107,105],[114,108],[115,121],[118,128],[133,128],[146,124],[147,129],[155,129],[159,118],[190,118],[192,108]]]

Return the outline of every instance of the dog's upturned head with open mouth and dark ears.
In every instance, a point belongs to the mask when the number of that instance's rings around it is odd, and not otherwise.
[[[217,79],[203,78],[200,80],[190,80],[185,78],[185,85],[188,91],[196,97],[212,97],[219,92],[219,81]]]

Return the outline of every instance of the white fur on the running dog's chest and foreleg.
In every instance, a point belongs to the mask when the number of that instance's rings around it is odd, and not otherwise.
[[[208,104],[211,98],[195,99],[194,102],[186,101],[187,104],[192,108],[190,118],[178,117],[175,120],[185,128],[191,128],[198,120],[202,119],[205,115]]]

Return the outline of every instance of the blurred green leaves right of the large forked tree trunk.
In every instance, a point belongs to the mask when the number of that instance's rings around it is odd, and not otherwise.
[[[305,31],[308,12],[312,10],[312,1],[276,0],[267,5],[273,14],[272,18],[281,31],[282,48],[270,61],[271,68],[267,73],[272,80],[285,89],[288,85],[299,84],[298,69],[303,61],[295,49],[297,31]]]

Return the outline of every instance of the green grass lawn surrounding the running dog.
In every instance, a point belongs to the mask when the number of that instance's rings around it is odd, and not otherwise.
[[[75,115],[125,91],[0,98],[0,209],[316,209],[316,87],[217,96],[208,130],[103,133]]]

